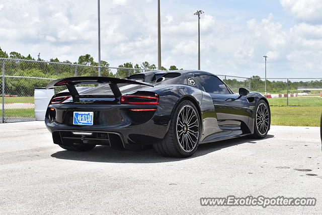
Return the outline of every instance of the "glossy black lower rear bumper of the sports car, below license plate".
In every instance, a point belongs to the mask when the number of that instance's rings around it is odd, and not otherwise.
[[[126,116],[112,125],[72,125],[52,122],[48,117],[45,124],[55,144],[67,145],[74,141],[79,144],[111,145],[111,136],[117,135],[125,149],[132,149],[135,145],[151,145],[162,140],[169,129],[171,112],[171,108],[159,106],[154,115],[142,124],[135,124]],[[92,132],[93,135],[73,135],[72,132]],[[105,138],[98,136],[101,134]]]

